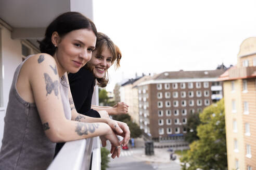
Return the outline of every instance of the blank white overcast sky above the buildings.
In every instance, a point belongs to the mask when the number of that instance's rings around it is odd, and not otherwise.
[[[240,44],[256,36],[256,1],[94,0],[97,30],[122,51],[108,91],[142,73],[236,65]]]

